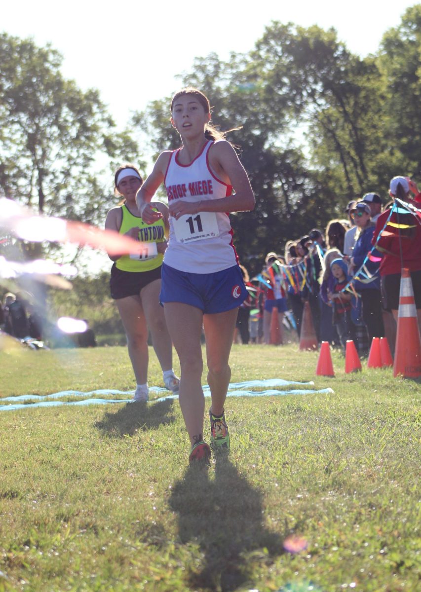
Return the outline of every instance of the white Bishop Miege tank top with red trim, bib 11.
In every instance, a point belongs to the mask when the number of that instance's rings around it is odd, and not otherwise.
[[[208,141],[189,165],[178,162],[179,150],[172,153],[164,184],[168,202],[173,200],[220,200],[232,193],[232,186],[217,178],[209,166]],[[233,245],[229,215],[221,212],[199,212],[178,220],[169,217],[169,242],[164,263],[193,274],[212,274],[238,263]]]

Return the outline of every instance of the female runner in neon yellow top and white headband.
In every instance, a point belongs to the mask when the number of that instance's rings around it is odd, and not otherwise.
[[[159,305],[161,287],[162,253],[166,249],[168,208],[154,202],[154,211],[160,218],[147,225],[136,207],[136,192],[142,186],[139,170],[133,165],[123,165],[114,175],[114,193],[124,198],[121,207],[112,208],[105,220],[105,228],[117,230],[132,239],[149,244],[150,253],[140,260],[133,256],[111,256],[111,297],[117,303],[127,336],[128,355],[136,377],[134,401],[147,401],[147,349],[148,327],[152,335],[153,349],[163,372],[165,387],[178,391],[179,380],[172,369],[172,343],[166,327],[162,307]]]

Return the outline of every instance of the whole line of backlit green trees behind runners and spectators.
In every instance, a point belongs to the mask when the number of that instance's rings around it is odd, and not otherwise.
[[[248,53],[194,60],[180,86],[210,97],[221,130],[240,128],[228,139],[256,195],[253,214],[232,217],[246,264],[323,229],[352,198],[385,197],[391,176],[420,180],[420,56],[417,4],[367,57],[350,52],[333,28],[271,22]],[[111,179],[126,161],[144,170],[147,152],[179,146],[170,97],[117,131],[98,91],[63,78],[52,47],[3,33],[0,62],[0,191],[40,213],[102,224],[112,192],[104,173]]]

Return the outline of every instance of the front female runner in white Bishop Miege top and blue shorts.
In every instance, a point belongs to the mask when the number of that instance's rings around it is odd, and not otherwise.
[[[214,451],[230,446],[224,417],[231,376],[228,361],[237,311],[248,293],[227,214],[253,210],[255,205],[236,152],[210,120],[210,104],[202,92],[187,88],[173,96],[171,123],[182,146],[160,154],[136,198],[143,220],[156,223],[162,213],[150,201],[159,185],[165,184],[170,234],[160,301],[180,359],[179,401],[192,447],[191,462],[210,458],[210,447],[203,440],[202,325],[212,400],[211,445]]]

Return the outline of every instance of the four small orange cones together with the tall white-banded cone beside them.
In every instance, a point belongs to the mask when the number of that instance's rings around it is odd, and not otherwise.
[[[417,310],[409,269],[402,269],[398,323],[396,335],[395,359],[393,361],[389,344],[385,337],[373,337],[368,355],[368,368],[385,368],[393,366],[393,375],[406,378],[421,376],[421,336],[418,327]],[[352,340],[346,342],[345,372],[361,370],[361,361]],[[335,376],[329,343],[322,342],[316,374],[319,376]]]

